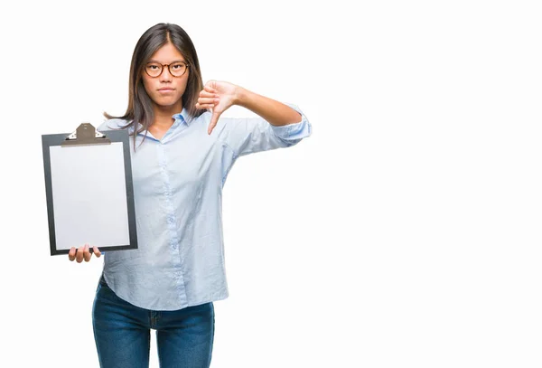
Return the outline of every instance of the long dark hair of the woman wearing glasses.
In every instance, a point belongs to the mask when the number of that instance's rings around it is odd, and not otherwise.
[[[182,107],[188,111],[189,115],[186,118],[191,120],[192,118],[199,117],[206,111],[205,109],[196,109],[195,107],[200,91],[203,89],[203,81],[201,80],[198,54],[188,33],[177,24],[155,24],[146,30],[135,44],[130,64],[128,108],[126,109],[126,113],[121,117],[114,117],[104,112],[106,118],[130,120],[123,128],[137,127],[136,123],[141,125],[137,131],[134,130],[134,147],[137,133],[148,130],[154,122],[153,101],[146,93],[141,74],[146,62],[153,56],[154,52],[167,43],[172,43],[182,53],[184,60],[190,65],[186,90],[182,94]]]

